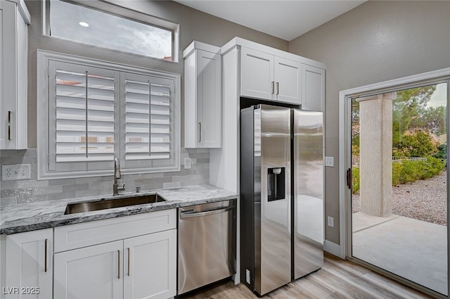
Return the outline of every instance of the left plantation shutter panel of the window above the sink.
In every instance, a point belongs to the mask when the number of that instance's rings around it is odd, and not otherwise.
[[[115,72],[49,63],[49,170],[109,168],[115,156]]]

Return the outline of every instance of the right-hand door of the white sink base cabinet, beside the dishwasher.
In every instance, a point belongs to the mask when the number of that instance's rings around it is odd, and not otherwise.
[[[176,295],[176,229],[124,240],[124,298]]]

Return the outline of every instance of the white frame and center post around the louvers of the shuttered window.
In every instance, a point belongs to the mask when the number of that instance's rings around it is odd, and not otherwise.
[[[50,136],[50,118],[49,118],[49,81],[51,61],[60,63],[75,63],[79,65],[86,65],[91,68],[103,68],[119,73],[131,73],[136,75],[162,77],[172,80],[174,83],[173,101],[173,128],[171,138],[173,138],[173,154],[174,163],[169,166],[152,167],[145,165],[138,167],[127,167],[125,161],[121,163],[122,174],[141,174],[153,172],[169,172],[180,170],[180,151],[181,151],[181,75],[163,72],[157,70],[150,70],[146,68],[134,67],[131,65],[122,65],[119,63],[110,63],[108,61],[98,61],[91,58],[84,58],[79,56],[72,56],[63,53],[55,53],[51,51],[37,50],[37,179],[67,179],[79,177],[99,177],[113,174],[113,160],[105,163],[105,168],[101,170],[71,170],[70,167],[64,170],[49,170],[49,163],[51,155],[49,154],[49,136]],[[117,76],[120,78],[120,76]],[[122,152],[122,143],[124,143],[124,136],[121,136],[122,118],[124,111],[121,110],[122,91],[120,90],[121,81],[115,83],[115,94],[118,98],[115,99],[115,156],[122,158],[125,153]],[[120,94],[119,94],[120,92]],[[121,138],[122,137],[122,138]],[[122,160],[122,159],[121,159]],[[122,162],[122,161],[121,161]],[[82,162],[85,163],[85,162]],[[94,162],[96,163],[96,162]],[[148,163],[146,163],[148,164]]]

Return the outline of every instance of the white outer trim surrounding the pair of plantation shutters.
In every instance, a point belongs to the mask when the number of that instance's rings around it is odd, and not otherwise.
[[[181,151],[181,75],[171,72],[149,70],[146,68],[134,67],[110,63],[108,61],[98,61],[79,56],[55,53],[51,51],[37,50],[37,179],[67,179],[78,177],[99,177],[103,175],[113,175],[111,170],[77,170],[49,172],[49,61],[63,61],[67,63],[79,63],[90,65],[96,68],[108,68],[121,72],[133,72],[140,75],[150,75],[154,77],[165,77],[173,79],[175,83],[174,92],[174,166],[173,167],[132,167],[122,168],[122,174],[141,174],[152,172],[167,172],[180,170]],[[44,118],[45,117],[45,118]],[[41,121],[45,119],[46,121]],[[117,133],[117,132],[116,132]],[[46,136],[44,138],[43,136]],[[119,145],[116,144],[118,147]],[[118,150],[116,150],[118,152]]]

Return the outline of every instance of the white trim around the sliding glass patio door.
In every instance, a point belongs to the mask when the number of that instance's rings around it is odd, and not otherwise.
[[[349,196],[349,189],[346,183],[346,172],[349,168],[349,126],[347,120],[349,119],[349,107],[348,98],[352,96],[370,96],[372,94],[380,94],[380,92],[389,92],[402,87],[413,87],[414,85],[423,86],[426,83],[433,84],[439,80],[448,80],[450,77],[450,68],[444,68],[442,70],[434,70],[431,72],[423,72],[418,75],[412,75],[409,77],[403,77],[399,79],[392,79],[385,82],[379,82],[375,84],[365,85],[363,87],[355,87],[352,89],[346,89],[339,92],[339,236],[340,244],[335,244],[330,241],[325,242],[324,249],[329,253],[337,255],[341,258],[347,257],[349,254],[349,248],[352,244],[349,244],[349,222],[350,217],[347,213],[347,198]],[[450,108],[450,87],[447,87],[447,110]],[[449,117],[450,118],[450,117]],[[450,120],[448,120],[450,121]],[[448,137],[447,137],[448,138]],[[448,141],[447,141],[448,143]]]

